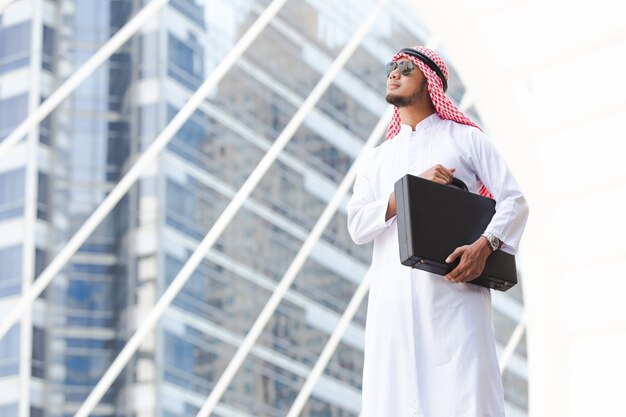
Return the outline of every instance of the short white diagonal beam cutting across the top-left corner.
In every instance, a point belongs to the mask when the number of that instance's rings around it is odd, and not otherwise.
[[[9,0],[11,1],[11,0]],[[20,123],[10,134],[0,143],[0,158],[11,148],[32,131],[39,123],[46,118],[63,100],[78,88],[78,86],[98,69],[107,59],[115,53],[122,45],[130,39],[143,25],[156,14],[168,0],[152,0],[145,5],[132,19],[128,21],[115,35],[111,37],[102,47],[93,54],[87,62],[65,80],[39,107],[32,112],[22,123]],[[0,3],[0,11],[2,10]]]

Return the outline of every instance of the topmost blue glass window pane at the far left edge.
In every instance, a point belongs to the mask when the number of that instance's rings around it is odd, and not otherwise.
[[[30,63],[30,21],[0,29],[0,74]]]

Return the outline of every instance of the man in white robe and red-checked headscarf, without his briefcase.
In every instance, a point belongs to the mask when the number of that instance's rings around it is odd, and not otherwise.
[[[348,203],[352,239],[374,241],[361,416],[503,417],[491,294],[467,281],[493,250],[515,253],[528,207],[487,137],[445,97],[439,55],[403,49],[387,77],[391,140],[366,156]],[[406,173],[440,184],[454,176],[496,200],[485,235],[450,254],[460,263],[445,277],[400,263],[393,186]]]

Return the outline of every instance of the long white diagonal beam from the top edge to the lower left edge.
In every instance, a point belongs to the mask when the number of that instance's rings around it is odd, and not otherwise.
[[[176,132],[185,124],[191,115],[202,104],[209,92],[233,67],[237,59],[244,53],[250,44],[257,38],[263,28],[267,26],[278,10],[287,0],[274,0],[259,18],[250,26],[248,31],[241,37],[234,48],[226,55],[209,77],[202,83],[200,88],[189,98],[187,103],[174,116],[170,123],[163,129],[161,134],[152,142],[150,147],[139,157],[137,162],[128,170],[126,175],[102,200],[96,210],[89,216],[87,221],[72,236],[69,242],[59,251],[50,264],[35,280],[30,291],[22,295],[18,304],[11,309],[7,317],[0,322],[0,340],[6,332],[19,320],[23,311],[46,289],[61,268],[71,259],[80,246],[87,240],[89,235],[102,223],[113,207],[124,197],[126,192],[133,186],[137,179],[148,168],[149,164],[159,155],[161,150],[172,140]]]

